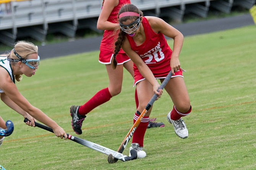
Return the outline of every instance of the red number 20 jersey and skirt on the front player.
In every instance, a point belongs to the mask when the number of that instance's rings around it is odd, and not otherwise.
[[[133,37],[126,35],[131,45],[131,49],[135,51],[147,64],[155,78],[165,78],[171,70],[170,59],[172,55],[172,49],[170,49],[162,33],[155,33],[154,30],[152,30],[146,17],[143,17],[142,24],[146,36],[146,40],[143,44],[137,46],[133,40]],[[135,64],[133,65],[133,69],[134,84],[145,79],[139,73],[139,70]],[[182,71],[178,72],[175,73],[175,76],[182,76]]]

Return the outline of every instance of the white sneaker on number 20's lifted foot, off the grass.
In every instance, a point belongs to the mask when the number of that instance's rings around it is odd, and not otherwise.
[[[176,135],[180,138],[187,138],[188,137],[188,129],[186,127],[185,122],[182,120],[182,118],[178,120],[172,120],[171,119],[171,112],[167,114],[167,120],[173,125],[174,131]]]

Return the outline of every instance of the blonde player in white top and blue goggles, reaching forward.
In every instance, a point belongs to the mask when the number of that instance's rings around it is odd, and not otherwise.
[[[8,54],[0,55],[0,97],[10,108],[29,119],[29,126],[35,126],[38,120],[51,127],[57,137],[67,138],[65,131],[38,108],[32,106],[18,91],[15,81],[21,81],[22,75],[35,75],[39,65],[38,48],[32,43],[18,41]],[[0,117],[0,127],[6,129],[5,121]],[[3,137],[0,136],[0,145]]]

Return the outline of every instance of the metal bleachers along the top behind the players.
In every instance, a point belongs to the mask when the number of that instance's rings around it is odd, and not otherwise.
[[[97,30],[102,0],[0,0],[11,3],[11,12],[0,11],[0,41],[12,45],[19,37],[45,41],[47,33],[75,37],[77,29]],[[207,17],[209,7],[229,13],[233,5],[250,8],[255,0],[131,0],[144,15],[171,17],[182,21],[184,14]]]

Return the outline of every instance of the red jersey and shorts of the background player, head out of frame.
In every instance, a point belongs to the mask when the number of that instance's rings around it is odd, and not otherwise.
[[[125,4],[130,4],[130,0],[119,0],[117,6],[115,6],[112,12],[109,15],[107,21],[112,23],[118,23],[118,11],[120,8]],[[102,6],[104,5],[104,2]],[[103,38],[100,43],[100,55],[99,55],[99,62],[102,64],[110,64],[113,51],[115,49],[115,41],[118,37],[118,31],[114,30],[104,30]],[[120,55],[118,55],[120,54]],[[123,64],[124,62],[130,60],[130,58],[125,54],[125,52],[120,49],[120,52],[117,54],[116,59],[118,64]]]

